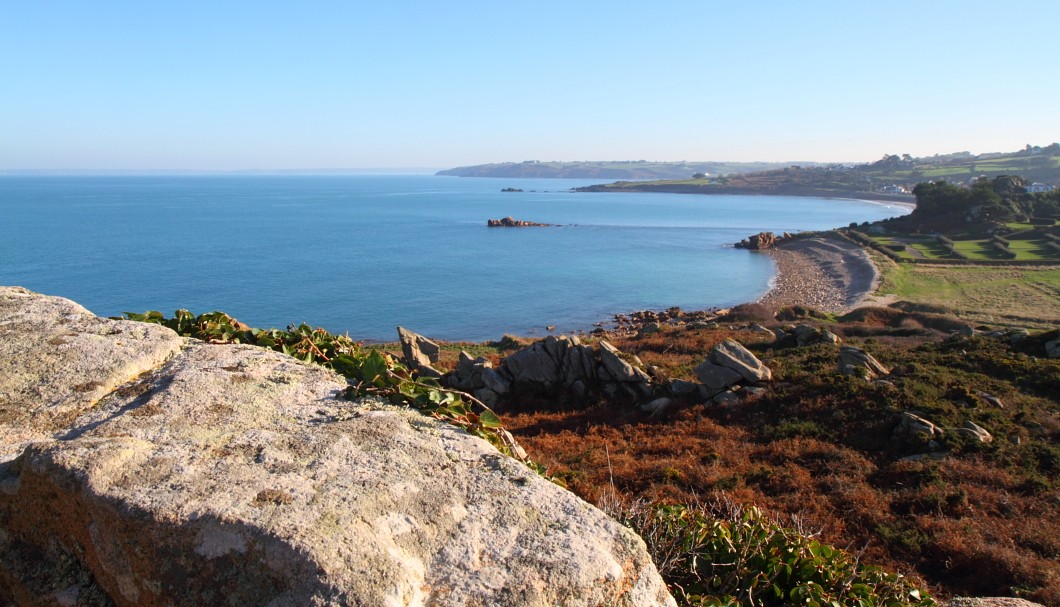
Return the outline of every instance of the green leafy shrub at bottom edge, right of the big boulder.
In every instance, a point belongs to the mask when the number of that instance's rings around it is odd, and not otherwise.
[[[718,510],[718,508],[716,508]],[[756,507],[638,503],[614,513],[643,537],[679,605],[933,607],[904,576],[768,520]]]

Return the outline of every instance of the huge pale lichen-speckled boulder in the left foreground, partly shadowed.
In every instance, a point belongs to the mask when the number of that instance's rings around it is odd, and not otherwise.
[[[629,529],[346,387],[0,288],[0,604],[674,605]]]

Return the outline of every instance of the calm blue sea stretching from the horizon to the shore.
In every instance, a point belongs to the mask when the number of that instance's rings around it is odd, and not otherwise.
[[[403,324],[479,341],[753,301],[773,263],[731,243],[905,213],[849,200],[569,192],[593,182],[0,177],[0,284],[101,316],[223,309],[253,326],[306,322],[391,340]],[[564,226],[485,227],[507,215]]]

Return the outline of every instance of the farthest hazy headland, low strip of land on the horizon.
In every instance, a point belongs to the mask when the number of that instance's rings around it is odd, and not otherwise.
[[[476,164],[439,171],[438,175],[453,177],[523,177],[567,179],[688,179],[694,174],[704,176],[731,175],[768,171],[790,165],[790,162],[499,162]],[[812,165],[814,163],[802,163]]]

